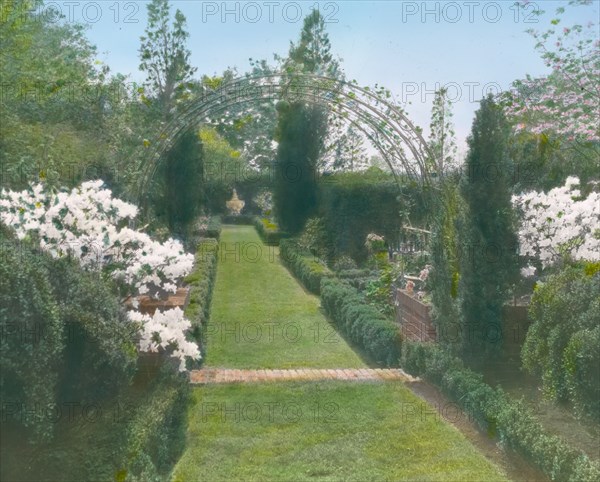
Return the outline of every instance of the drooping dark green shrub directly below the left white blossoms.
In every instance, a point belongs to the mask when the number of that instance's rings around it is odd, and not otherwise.
[[[68,258],[48,260],[48,272],[67,333],[60,402],[92,403],[118,394],[135,372],[138,335],[116,290]]]

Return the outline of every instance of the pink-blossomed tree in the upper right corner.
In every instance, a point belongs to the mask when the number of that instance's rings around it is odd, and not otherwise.
[[[572,0],[567,8],[590,4],[589,0]],[[572,175],[584,184],[597,178],[598,24],[590,18],[584,25],[564,25],[564,12],[565,6],[559,7],[546,30],[528,31],[544,63],[552,69],[550,74],[516,80],[503,99],[517,134],[511,141],[516,193],[552,189]]]

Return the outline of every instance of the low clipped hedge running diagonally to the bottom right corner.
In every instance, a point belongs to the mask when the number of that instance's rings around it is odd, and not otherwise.
[[[551,480],[600,480],[599,462],[550,435],[522,400],[492,388],[482,375],[433,343],[403,343],[401,365],[438,386],[488,434],[525,456]]]

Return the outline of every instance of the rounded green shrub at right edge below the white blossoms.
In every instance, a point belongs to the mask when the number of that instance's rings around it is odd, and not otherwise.
[[[534,292],[523,364],[545,394],[600,420],[600,273],[571,266]]]

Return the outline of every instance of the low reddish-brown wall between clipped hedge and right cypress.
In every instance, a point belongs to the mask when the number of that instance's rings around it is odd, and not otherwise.
[[[411,341],[435,341],[436,332],[431,322],[431,307],[408,295],[404,290],[396,290],[396,321],[400,324],[402,336]]]

